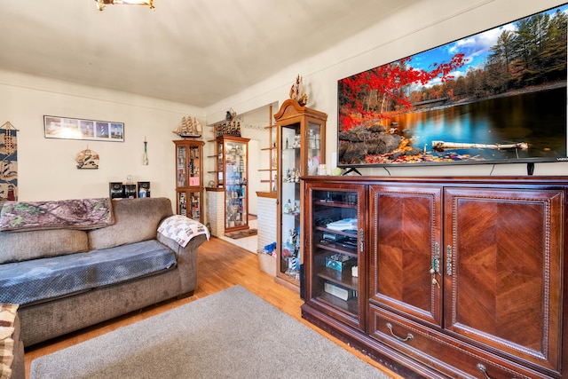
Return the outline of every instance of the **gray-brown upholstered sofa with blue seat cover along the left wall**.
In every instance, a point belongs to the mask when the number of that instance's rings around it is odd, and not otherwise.
[[[195,233],[187,245],[182,247],[174,239],[157,233],[158,226],[164,219],[173,218],[171,202],[166,198],[122,199],[111,203],[114,225],[91,230],[57,228],[0,232],[0,303],[20,304],[20,338],[25,346],[163,300],[193,295],[193,290],[197,287],[197,249],[209,235]],[[144,249],[148,251],[141,251]],[[130,264],[123,264],[122,258],[144,253],[152,260],[154,250],[162,250],[166,255],[173,253],[173,263],[171,257],[170,261],[160,258],[160,261],[166,262],[165,267],[154,272],[146,270],[137,277],[132,277],[128,266]],[[51,296],[49,291],[42,292],[44,288],[32,289],[32,298],[27,304],[21,304],[21,300],[14,302],[10,298],[2,298],[2,293],[10,292],[9,284],[2,284],[10,283],[6,272],[23,274],[30,267],[32,271],[37,269],[41,272],[46,266],[60,268],[66,265],[67,259],[75,259],[69,265],[73,270],[75,262],[88,261],[94,257],[108,260],[103,261],[102,265],[111,271],[109,275],[112,280],[103,280],[102,284],[92,288],[72,289],[71,293],[63,295],[56,293]],[[99,276],[91,268],[84,271],[83,276],[88,280]],[[121,279],[121,272],[124,280]],[[72,278],[70,273],[58,280],[55,287],[61,283],[67,286],[81,281]],[[21,284],[19,286],[26,287]],[[20,299],[20,292],[13,292],[12,296]],[[41,298],[37,298],[38,293]]]

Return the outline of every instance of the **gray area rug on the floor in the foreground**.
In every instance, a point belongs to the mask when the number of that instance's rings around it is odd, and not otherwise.
[[[35,359],[30,378],[389,378],[235,286]]]

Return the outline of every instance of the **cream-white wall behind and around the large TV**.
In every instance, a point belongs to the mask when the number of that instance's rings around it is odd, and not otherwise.
[[[296,75],[302,75],[309,96],[308,107],[327,113],[326,159],[331,166],[332,154],[336,151],[339,79],[560,4],[564,4],[564,0],[416,1],[358,36],[337,43],[333,49],[286,67],[262,83],[207,107],[207,118],[222,118],[229,107],[241,114],[274,101],[281,104],[288,99],[288,90]],[[377,15],[379,18],[380,14]],[[389,175],[383,169],[360,171],[364,175]],[[393,176],[526,175],[526,165],[405,166],[390,167],[389,171]],[[568,163],[539,163],[534,170],[534,175],[566,174]]]

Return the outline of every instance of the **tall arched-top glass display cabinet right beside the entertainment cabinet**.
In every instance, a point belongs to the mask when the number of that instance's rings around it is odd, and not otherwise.
[[[327,114],[301,107],[296,100],[286,100],[277,114],[278,164],[278,241],[276,281],[301,292],[303,296],[303,243],[301,213],[304,193],[300,177],[315,175],[325,162]]]

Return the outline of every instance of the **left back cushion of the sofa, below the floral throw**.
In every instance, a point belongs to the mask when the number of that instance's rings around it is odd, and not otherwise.
[[[83,230],[0,232],[0,247],[0,264],[5,264],[87,251],[89,241]]]

